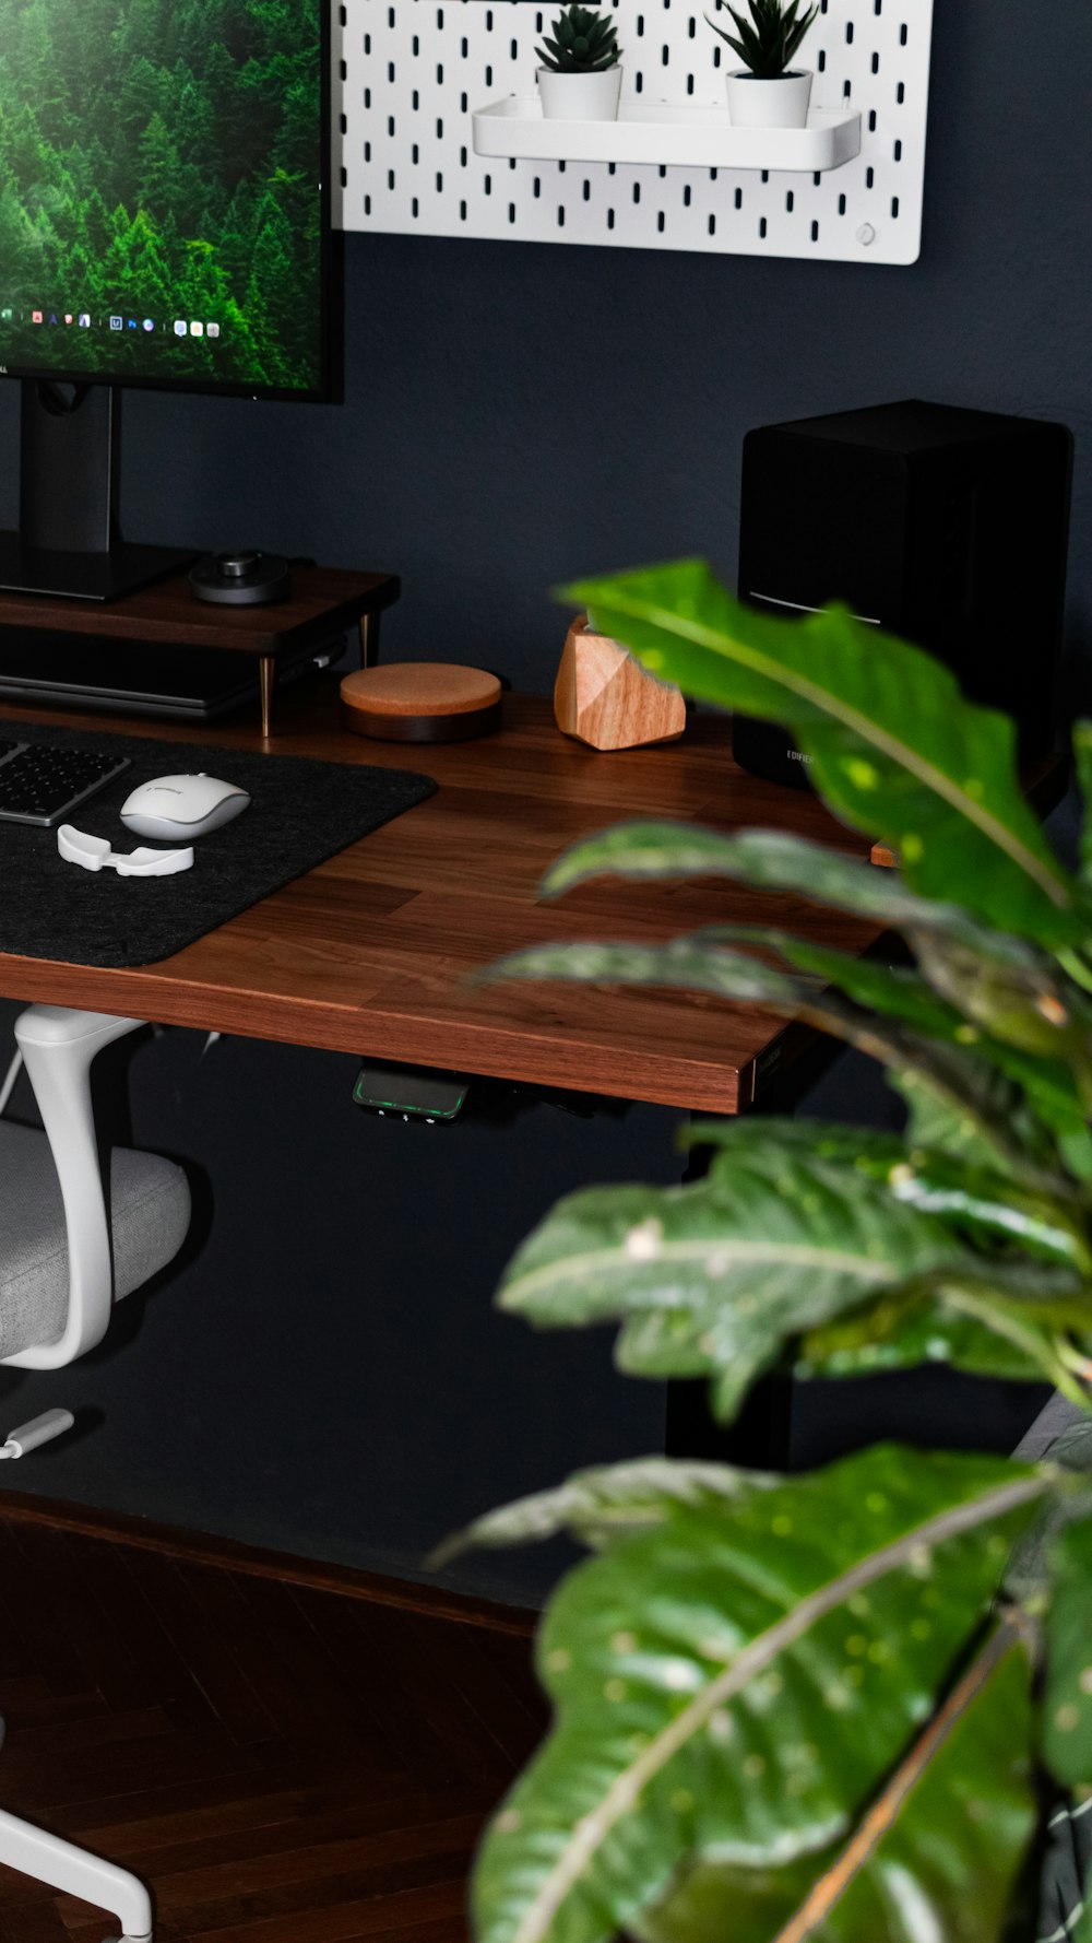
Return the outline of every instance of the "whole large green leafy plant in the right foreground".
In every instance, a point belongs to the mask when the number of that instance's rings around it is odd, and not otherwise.
[[[783,721],[900,869],[622,824],[544,894],[719,874],[870,917],[909,962],[771,921],[486,975],[760,999],[878,1059],[907,1123],[698,1125],[705,1177],[569,1195],[501,1306],[618,1323],[624,1370],[705,1376],[725,1420],[775,1366],[925,1360],[1049,1378],[1086,1413],[1092,818],[1071,872],[1022,797],[1012,723],[841,608],[773,620],[700,562],[565,595],[657,676]],[[1075,748],[1088,795],[1092,725]],[[876,1446],[779,1479],[653,1457],[484,1517],[470,1541],[565,1529],[593,1556],[542,1622],[554,1727],[482,1846],[480,1943],[1028,1943],[1045,1815],[1092,1795],[1088,1471],[1078,1415],[1049,1465]],[[1092,1914],[1065,1933],[1088,1943]]]

